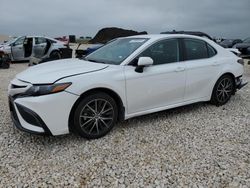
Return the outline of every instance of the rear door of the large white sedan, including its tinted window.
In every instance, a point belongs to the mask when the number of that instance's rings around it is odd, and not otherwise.
[[[185,101],[210,96],[213,80],[218,75],[216,50],[207,42],[199,39],[182,39],[186,64]]]

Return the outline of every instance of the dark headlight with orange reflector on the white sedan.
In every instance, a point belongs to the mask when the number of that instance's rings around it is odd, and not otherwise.
[[[49,85],[33,85],[26,92],[27,95],[39,96],[64,91],[71,83],[58,83]]]

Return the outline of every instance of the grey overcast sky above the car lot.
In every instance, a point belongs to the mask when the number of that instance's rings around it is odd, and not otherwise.
[[[103,27],[250,37],[250,0],[1,0],[0,34],[94,36]]]

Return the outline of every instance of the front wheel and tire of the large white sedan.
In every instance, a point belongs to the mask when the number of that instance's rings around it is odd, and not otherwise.
[[[114,127],[118,108],[108,94],[99,92],[84,97],[74,113],[74,129],[82,137],[97,139]]]

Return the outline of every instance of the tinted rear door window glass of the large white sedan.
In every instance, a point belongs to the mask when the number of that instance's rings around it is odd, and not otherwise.
[[[197,39],[184,39],[186,47],[186,60],[208,58],[207,45]]]

